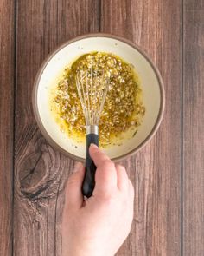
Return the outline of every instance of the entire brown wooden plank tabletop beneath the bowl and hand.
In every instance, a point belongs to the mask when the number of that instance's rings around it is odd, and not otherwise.
[[[48,53],[99,31],[139,44],[166,90],[161,128],[122,162],[136,197],[131,234],[117,255],[202,256],[203,0],[0,1],[1,255],[61,255],[64,187],[73,161],[42,137],[31,91]]]

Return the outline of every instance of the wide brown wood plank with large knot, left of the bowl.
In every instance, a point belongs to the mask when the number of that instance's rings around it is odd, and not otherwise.
[[[31,92],[41,62],[59,43],[99,31],[98,1],[17,1],[15,255],[61,255],[63,188],[73,161],[36,128]]]

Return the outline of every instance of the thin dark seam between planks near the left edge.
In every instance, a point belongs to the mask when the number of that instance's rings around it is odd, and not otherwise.
[[[12,181],[12,233],[11,233],[11,255],[13,256],[15,254],[14,252],[14,195],[15,195],[15,186],[14,186],[14,179],[15,179],[15,147],[16,147],[16,47],[17,47],[17,0],[14,1],[14,81],[13,81],[13,159],[12,159],[12,176],[13,176],[13,181]]]

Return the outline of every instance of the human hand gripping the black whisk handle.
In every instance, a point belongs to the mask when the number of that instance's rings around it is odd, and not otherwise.
[[[126,170],[97,146],[90,147],[97,166],[92,197],[81,193],[85,167],[77,163],[67,181],[62,220],[63,256],[112,256],[131,230],[134,188]]]

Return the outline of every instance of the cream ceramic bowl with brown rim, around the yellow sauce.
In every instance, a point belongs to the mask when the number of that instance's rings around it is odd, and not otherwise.
[[[62,133],[55,122],[49,106],[49,91],[57,84],[59,76],[68,65],[79,56],[92,51],[109,52],[120,56],[125,62],[133,64],[141,80],[146,112],[142,124],[137,129],[137,135],[125,140],[121,146],[105,148],[106,154],[112,160],[121,160],[137,152],[150,141],[162,121],[164,109],[163,81],[158,69],[142,49],[124,38],[100,33],[88,34],[74,38],[55,49],[42,63],[35,78],[33,90],[35,119],[42,134],[54,148],[60,149],[74,160],[85,159],[86,145],[76,143],[73,138]]]

